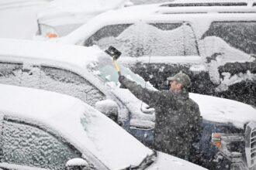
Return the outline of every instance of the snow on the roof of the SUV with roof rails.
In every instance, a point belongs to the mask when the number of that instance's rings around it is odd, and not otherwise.
[[[64,43],[71,43],[71,44],[78,44],[88,39],[89,36],[92,36],[96,31],[104,26],[115,25],[115,24],[125,24],[125,23],[136,23],[136,22],[195,22],[196,26],[199,27],[198,35],[202,35],[205,32],[210,23],[213,21],[234,21],[242,20],[242,21],[255,21],[255,9],[254,12],[245,12],[245,8],[243,9],[244,12],[242,13],[217,13],[216,11],[219,10],[219,6],[211,7],[213,12],[210,12],[206,15],[204,13],[200,13],[200,7],[192,7],[192,10],[195,10],[194,13],[180,13],[171,14],[169,12],[176,10],[175,8],[169,7],[160,7],[163,4],[150,4],[150,5],[134,5],[127,8],[119,8],[116,10],[111,10],[109,12],[103,12],[100,15],[95,16],[94,18],[90,19],[84,25],[80,26],[78,29],[75,29],[73,32],[69,33],[67,36],[61,37],[57,39],[59,42]],[[205,8],[205,7],[204,7]],[[178,10],[191,10],[191,7],[182,7],[182,9]],[[199,13],[196,13],[196,10],[199,10]],[[230,7],[227,7],[229,10]],[[252,10],[252,9],[251,9]],[[178,16],[176,16],[178,15]],[[203,22],[202,22],[203,21]]]

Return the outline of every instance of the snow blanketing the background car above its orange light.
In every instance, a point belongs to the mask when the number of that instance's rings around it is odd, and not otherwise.
[[[126,0],[87,1],[55,0],[47,8],[37,13],[40,24],[61,26],[65,24],[83,24],[99,13],[113,8],[121,8]],[[57,28],[55,28],[57,29]]]

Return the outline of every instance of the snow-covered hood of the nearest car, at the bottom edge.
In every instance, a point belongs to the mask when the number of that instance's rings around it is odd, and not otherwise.
[[[156,169],[178,169],[178,170],[203,170],[199,165],[195,165],[191,162],[187,162],[181,158],[175,156],[164,154],[160,151],[157,151],[157,160],[150,165],[147,170],[156,170]]]

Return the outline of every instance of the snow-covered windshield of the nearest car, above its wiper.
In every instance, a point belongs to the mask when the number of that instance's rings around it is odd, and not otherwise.
[[[153,154],[131,134],[92,107],[86,107],[80,122],[84,132],[80,135],[85,136],[84,145],[109,169],[138,166],[147,155]]]

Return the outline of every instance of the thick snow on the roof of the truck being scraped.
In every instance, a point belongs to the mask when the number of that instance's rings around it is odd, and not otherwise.
[[[98,46],[71,46],[57,42],[31,41],[23,39],[0,39],[0,55],[8,60],[46,59],[52,62],[73,64],[85,67],[97,60],[103,52]],[[9,56],[15,56],[14,58]],[[75,59],[74,59],[75,56]],[[40,61],[39,61],[40,62]]]

